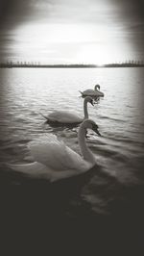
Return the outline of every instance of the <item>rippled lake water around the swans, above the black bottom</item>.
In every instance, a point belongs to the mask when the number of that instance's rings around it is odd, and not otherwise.
[[[125,215],[129,209],[139,209],[144,183],[143,82],[143,67],[0,69],[1,186],[36,186],[37,193],[43,187],[51,187],[52,192],[55,188],[54,199],[48,192],[47,196],[57,201],[57,211],[70,218]],[[5,166],[32,162],[27,144],[46,133],[56,134],[79,153],[78,127],[52,127],[40,113],[66,109],[84,115],[79,90],[93,89],[95,84],[100,84],[105,97],[94,107],[88,105],[88,114],[102,137],[91,132],[87,144],[98,168],[82,180],[62,181],[58,190],[56,184],[32,181]]]

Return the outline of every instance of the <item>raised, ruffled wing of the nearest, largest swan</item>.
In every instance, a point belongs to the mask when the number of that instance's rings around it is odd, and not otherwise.
[[[48,134],[32,141],[29,147],[36,162],[51,167],[54,171],[87,168],[84,159],[62,141],[58,141],[55,135]]]

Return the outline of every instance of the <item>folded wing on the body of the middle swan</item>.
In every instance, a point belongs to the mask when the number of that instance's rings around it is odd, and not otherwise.
[[[83,117],[67,112],[67,111],[55,111],[47,117],[50,121],[60,123],[80,123],[83,121]]]

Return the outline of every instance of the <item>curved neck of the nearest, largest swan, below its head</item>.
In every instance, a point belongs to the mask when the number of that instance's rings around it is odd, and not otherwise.
[[[84,160],[94,164],[95,163],[95,158],[92,154],[92,152],[88,149],[86,142],[85,142],[85,129],[83,126],[80,126],[79,128],[79,133],[78,133],[78,140],[79,140],[79,145],[80,145],[80,150],[82,155],[84,156]]]

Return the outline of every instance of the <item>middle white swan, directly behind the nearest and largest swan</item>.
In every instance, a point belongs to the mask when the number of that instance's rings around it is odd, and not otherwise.
[[[47,119],[48,122],[55,122],[55,123],[64,123],[64,124],[73,124],[73,123],[81,123],[85,118],[88,118],[87,112],[87,102],[93,104],[93,99],[90,96],[84,98],[84,117],[71,113],[69,111],[54,111],[50,115],[42,115],[44,118]]]

